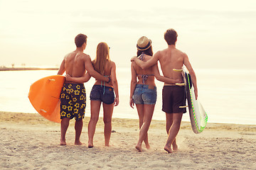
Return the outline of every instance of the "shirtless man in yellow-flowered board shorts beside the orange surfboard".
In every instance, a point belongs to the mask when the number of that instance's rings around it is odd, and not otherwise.
[[[95,77],[95,79],[110,82],[110,78],[102,76],[93,69],[90,56],[83,53],[86,42],[86,35],[78,34],[75,37],[76,50],[65,55],[63,62],[60,64],[58,74],[62,75],[66,72],[71,77],[83,77],[87,70],[90,76]],[[60,94],[60,145],[66,145],[65,134],[68,130],[69,121],[73,118],[75,118],[75,145],[82,145],[80,135],[82,132],[82,119],[85,117],[85,105],[84,84],[65,81]]]

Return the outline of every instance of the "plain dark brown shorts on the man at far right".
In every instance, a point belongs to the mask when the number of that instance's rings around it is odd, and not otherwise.
[[[186,113],[186,94],[184,86],[164,86],[162,91],[162,111],[165,113]]]

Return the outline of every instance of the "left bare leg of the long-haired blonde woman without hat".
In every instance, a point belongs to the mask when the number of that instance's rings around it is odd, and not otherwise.
[[[88,124],[88,147],[93,147],[93,136],[95,134],[97,120],[99,120],[101,101],[91,101],[91,117]]]

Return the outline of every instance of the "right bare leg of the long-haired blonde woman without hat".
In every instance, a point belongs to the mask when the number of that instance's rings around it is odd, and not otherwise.
[[[105,104],[103,103],[103,121],[105,124],[104,128],[104,137],[105,137],[105,146],[110,146],[110,136],[112,131],[112,113],[114,109],[114,103]]]

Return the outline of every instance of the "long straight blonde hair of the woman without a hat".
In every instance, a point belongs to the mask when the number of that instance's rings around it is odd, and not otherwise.
[[[104,75],[108,62],[110,62],[110,47],[106,42],[100,42],[97,45],[96,58],[92,61],[92,65],[98,73]]]

